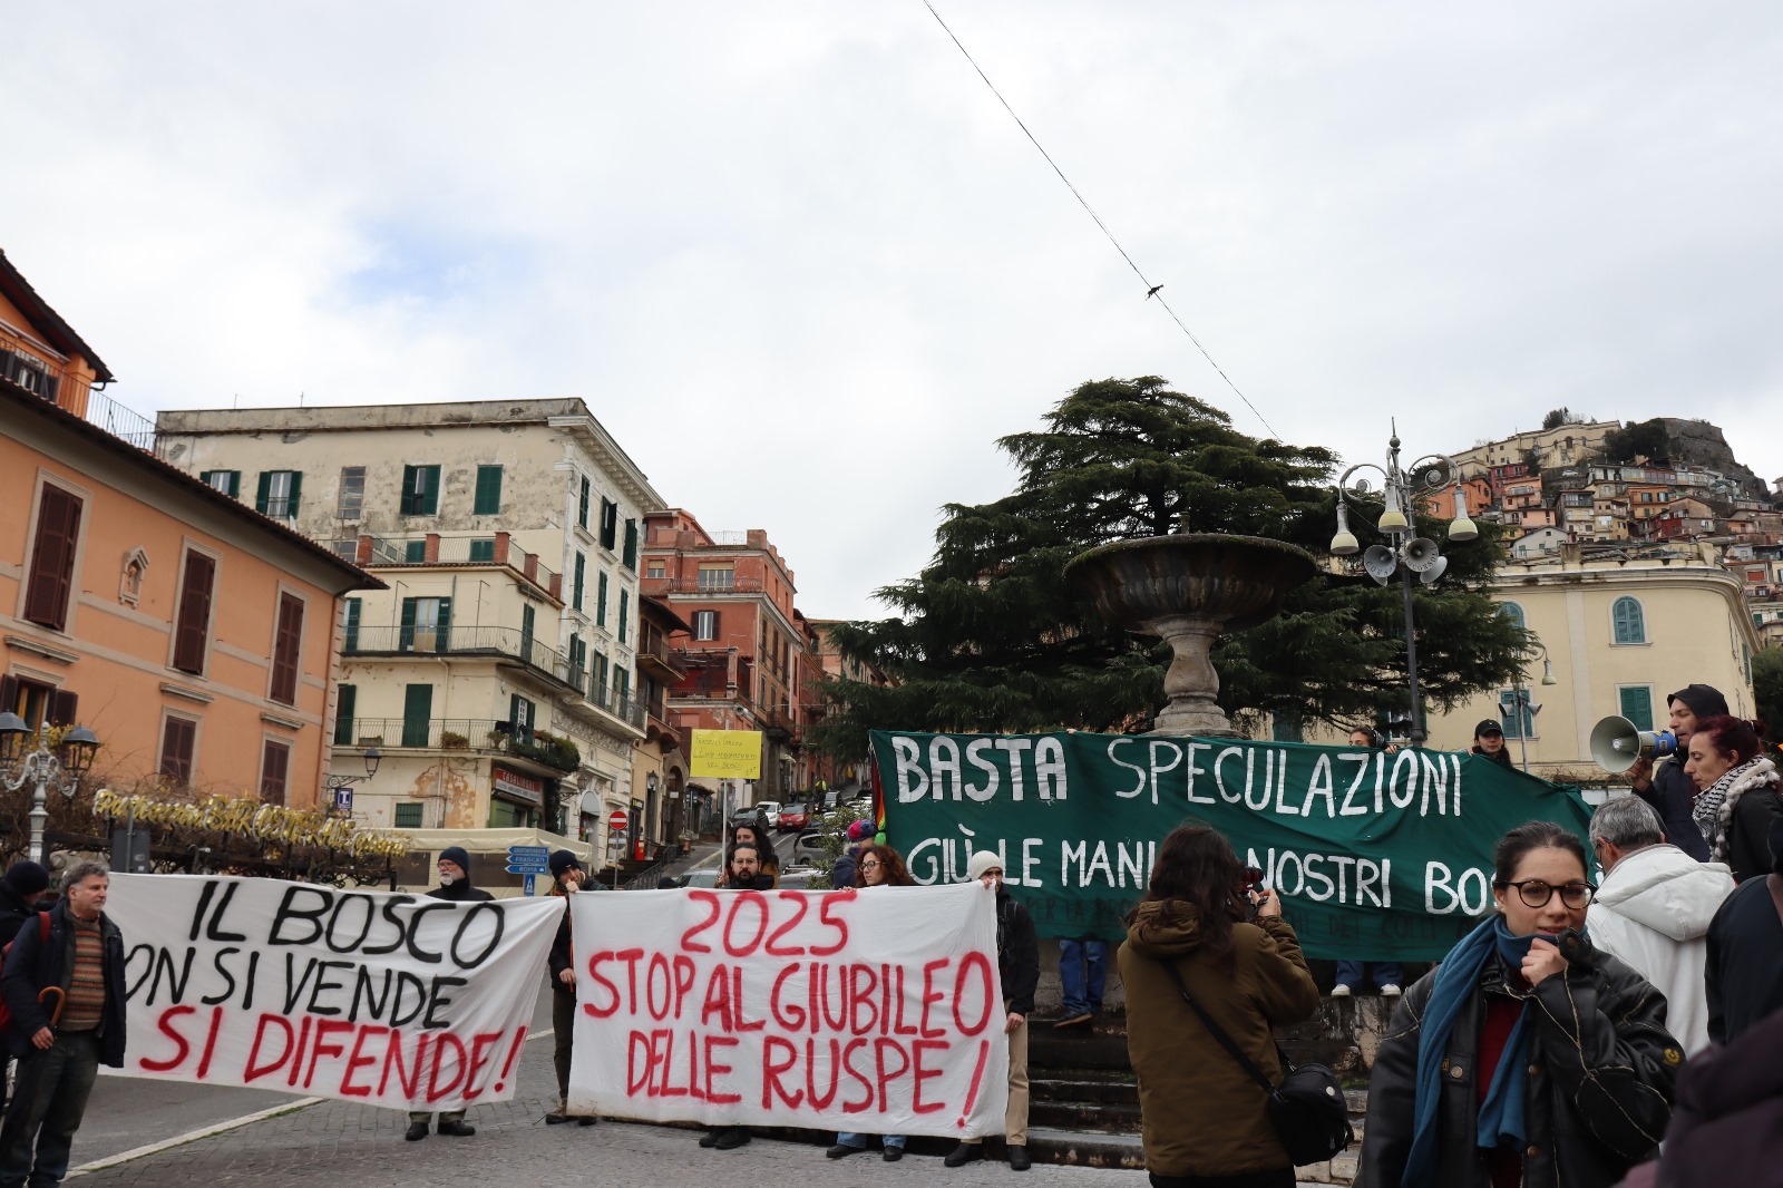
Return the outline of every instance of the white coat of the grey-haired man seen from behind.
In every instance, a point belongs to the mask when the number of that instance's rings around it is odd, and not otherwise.
[[[1687,1054],[1708,1047],[1708,922],[1730,894],[1733,876],[1724,863],[1649,846],[1615,863],[1585,915],[1592,944],[1665,995],[1665,1029]]]

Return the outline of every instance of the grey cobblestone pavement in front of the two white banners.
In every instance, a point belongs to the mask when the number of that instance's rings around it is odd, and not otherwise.
[[[653,1184],[811,1183],[849,1184],[1079,1184],[1082,1188],[1138,1188],[1145,1172],[1036,1163],[1011,1172],[995,1161],[959,1170],[938,1156],[909,1154],[884,1163],[877,1151],[847,1159],[826,1159],[824,1147],[756,1138],[738,1151],[703,1151],[695,1131],[601,1122],[599,1126],[544,1126],[556,1101],[551,1042],[526,1045],[514,1101],[478,1106],[465,1117],[471,1138],[430,1134],[405,1142],[408,1118],[394,1110],[373,1110],[326,1101],[291,1113],[200,1138],[80,1176],[80,1188],[317,1188],[374,1184],[378,1188],[439,1188],[440,1184],[597,1184],[647,1188]],[[144,1093],[155,1081],[139,1081]],[[103,1117],[87,1117],[82,1129],[102,1131]],[[171,1136],[169,1136],[171,1138]],[[75,1136],[75,1163],[82,1161]],[[75,1179],[75,1177],[71,1177]]]

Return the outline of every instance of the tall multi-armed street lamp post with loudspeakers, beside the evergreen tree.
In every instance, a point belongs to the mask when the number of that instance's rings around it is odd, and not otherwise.
[[[1387,585],[1394,574],[1405,596],[1405,672],[1412,699],[1410,742],[1414,747],[1425,742],[1423,705],[1417,696],[1417,637],[1412,628],[1412,574],[1419,583],[1430,585],[1448,569],[1448,558],[1437,549],[1435,540],[1417,535],[1417,496],[1455,487],[1455,517],[1450,521],[1448,539],[1455,544],[1473,540],[1480,530],[1467,519],[1467,501],[1460,491],[1460,467],[1442,453],[1425,455],[1410,464],[1400,466],[1400,426],[1394,423],[1393,437],[1387,441],[1387,466],[1359,462],[1337,480],[1337,535],[1332,537],[1332,555],[1350,557],[1362,546],[1350,532],[1350,503],[1369,494],[1368,480],[1355,480],[1357,471],[1375,471],[1382,480],[1385,510],[1375,524],[1376,532],[1387,537],[1387,544],[1371,544],[1362,553],[1362,569],[1380,585]],[[1359,510],[1360,514],[1360,510]]]

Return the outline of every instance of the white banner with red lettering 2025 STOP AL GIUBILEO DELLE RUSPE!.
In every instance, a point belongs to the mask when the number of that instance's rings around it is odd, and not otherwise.
[[[979,883],[658,890],[571,912],[572,1113],[1002,1134],[1007,1019]]]

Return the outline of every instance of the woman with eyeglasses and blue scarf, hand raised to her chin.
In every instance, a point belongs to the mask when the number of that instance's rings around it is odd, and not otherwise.
[[[1665,999],[1583,935],[1578,835],[1498,842],[1498,912],[1400,1001],[1375,1056],[1368,1188],[1608,1188],[1665,1133]]]

